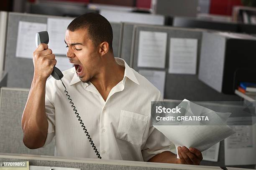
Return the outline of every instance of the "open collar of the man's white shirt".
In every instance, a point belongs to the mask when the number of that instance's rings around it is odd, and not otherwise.
[[[130,80],[132,80],[133,82],[135,82],[136,84],[139,85],[139,82],[137,80],[137,78],[135,77],[134,73],[133,73],[133,69],[131,67],[128,66],[128,64],[125,62],[125,60],[123,60],[122,58],[118,58],[115,57],[115,61],[121,65],[125,67],[125,72],[124,72],[124,78],[128,77]],[[72,78],[72,80],[70,81],[69,85],[74,85],[77,82],[81,81],[80,78],[77,76],[76,70],[74,70],[74,76]],[[85,82],[86,83],[86,82]],[[86,83],[88,85],[88,83]]]

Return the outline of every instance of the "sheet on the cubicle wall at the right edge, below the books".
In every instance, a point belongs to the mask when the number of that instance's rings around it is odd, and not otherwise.
[[[225,165],[252,165],[256,163],[256,126],[245,125],[251,117],[230,117],[228,122],[235,134],[225,139]],[[244,125],[239,125],[243,122]]]

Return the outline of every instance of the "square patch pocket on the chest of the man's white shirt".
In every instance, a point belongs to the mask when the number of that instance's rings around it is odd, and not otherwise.
[[[126,140],[133,145],[141,145],[147,122],[148,116],[121,110],[115,138]]]

